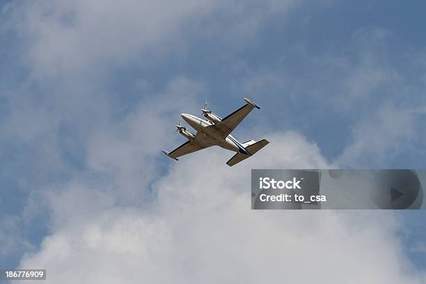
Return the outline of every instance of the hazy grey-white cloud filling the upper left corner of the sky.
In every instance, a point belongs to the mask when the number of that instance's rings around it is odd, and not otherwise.
[[[26,55],[35,75],[43,77],[129,63],[137,54],[176,40],[174,33],[182,22],[210,6],[208,1],[182,5],[128,0],[118,5],[115,1],[45,0],[14,3],[6,12],[12,15],[10,26],[28,44]]]

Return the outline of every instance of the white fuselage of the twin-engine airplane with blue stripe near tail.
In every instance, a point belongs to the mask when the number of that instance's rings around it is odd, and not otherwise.
[[[239,143],[237,139],[232,137],[232,135],[228,135],[225,139],[223,139],[223,136],[216,127],[209,127],[210,125],[214,125],[214,123],[212,123],[210,120],[203,120],[187,113],[182,113],[182,118],[198,132],[196,134],[196,139],[194,139],[195,143],[198,143],[202,146],[218,145],[223,149],[249,155],[244,146]],[[186,129],[186,131],[190,134],[193,134],[188,129]],[[187,138],[191,139],[190,137]]]

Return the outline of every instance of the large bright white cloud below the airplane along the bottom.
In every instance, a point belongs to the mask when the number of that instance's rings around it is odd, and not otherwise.
[[[53,216],[65,218],[20,266],[46,268],[46,283],[425,280],[402,254],[391,213],[251,210],[253,166],[329,165],[300,134],[264,136],[271,144],[232,168],[223,150],[170,161],[152,185],[152,206],[99,206],[104,198],[85,194],[84,184],[51,192]],[[91,206],[100,210],[84,209]]]

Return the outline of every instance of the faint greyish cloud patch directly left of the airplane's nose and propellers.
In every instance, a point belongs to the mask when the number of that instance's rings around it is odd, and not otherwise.
[[[90,170],[113,177],[116,194],[123,201],[143,198],[146,185],[157,175],[155,157],[161,149],[180,143],[178,135],[173,136],[180,112],[198,109],[196,97],[203,92],[200,82],[173,79],[165,90],[142,100],[122,121],[97,129],[88,142]]]

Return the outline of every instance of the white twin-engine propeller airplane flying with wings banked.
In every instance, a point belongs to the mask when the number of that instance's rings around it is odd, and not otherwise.
[[[242,120],[250,113],[253,109],[260,109],[252,100],[243,98],[246,104],[240,107],[229,116],[225,118],[220,118],[212,111],[207,110],[207,102],[204,105],[204,108],[201,109],[203,116],[207,120],[198,118],[191,114],[182,113],[182,118],[189,124],[191,127],[196,129],[196,134],[191,132],[180,124],[176,125],[178,129],[176,132],[179,132],[185,136],[188,141],[178,148],[171,152],[163,150],[164,154],[172,159],[178,161],[178,157],[187,155],[191,152],[196,152],[205,148],[209,148],[213,145],[217,145],[223,149],[231,150],[237,152],[232,156],[229,161],[226,162],[228,166],[234,166],[235,164],[251,157],[258,152],[260,149],[265,147],[269,141],[262,139],[258,142],[254,140],[249,140],[244,143],[239,143],[230,133],[242,122]]]

